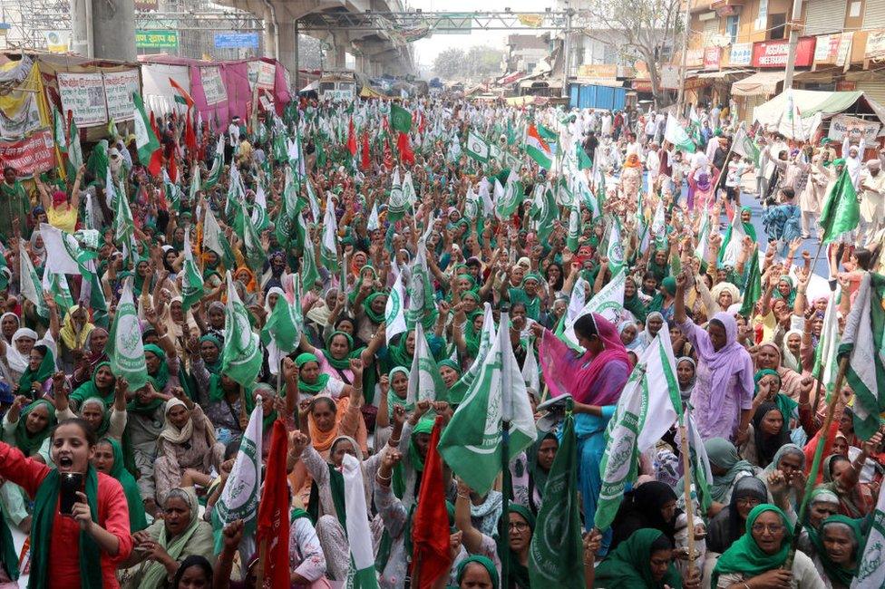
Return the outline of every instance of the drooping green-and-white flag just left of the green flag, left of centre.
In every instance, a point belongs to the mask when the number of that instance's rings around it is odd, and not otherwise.
[[[251,387],[261,371],[263,355],[258,345],[258,333],[252,331],[246,306],[239,300],[230,271],[227,272],[228,305],[224,323],[224,352],[221,354],[221,372],[241,386]]]

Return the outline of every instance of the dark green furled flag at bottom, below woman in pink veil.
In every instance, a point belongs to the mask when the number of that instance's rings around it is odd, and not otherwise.
[[[529,546],[532,587],[583,589],[585,586],[578,468],[575,418],[569,411],[547,483],[539,489],[544,502]]]

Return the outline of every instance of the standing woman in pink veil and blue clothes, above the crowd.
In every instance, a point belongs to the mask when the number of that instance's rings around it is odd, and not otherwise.
[[[633,366],[618,328],[602,315],[583,315],[575,322],[574,329],[578,343],[587,352],[578,355],[551,331],[543,330],[540,365],[550,396],[568,393],[575,401],[579,488],[584,527],[589,530],[593,527],[602,488],[599,463],[606,450],[604,433]],[[610,540],[609,529],[603,536],[600,554],[608,551]]]

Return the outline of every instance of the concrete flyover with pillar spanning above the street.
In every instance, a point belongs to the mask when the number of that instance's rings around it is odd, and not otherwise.
[[[264,46],[267,56],[276,57],[293,74],[298,63],[297,23],[323,13],[403,12],[402,0],[217,0],[218,4],[246,10],[264,19]],[[314,36],[332,46],[330,67],[345,67],[345,53],[356,58],[357,72],[378,75],[415,71],[408,43],[397,41],[383,30],[320,30],[307,27],[303,34]]]

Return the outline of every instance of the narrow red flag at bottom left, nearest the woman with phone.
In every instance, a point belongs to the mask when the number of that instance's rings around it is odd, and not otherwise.
[[[259,554],[266,543],[264,560],[264,584],[270,587],[289,586],[289,488],[286,478],[286,453],[288,439],[286,425],[274,421],[267,455],[267,471],[264,491],[258,504]],[[259,565],[260,566],[260,565]]]

